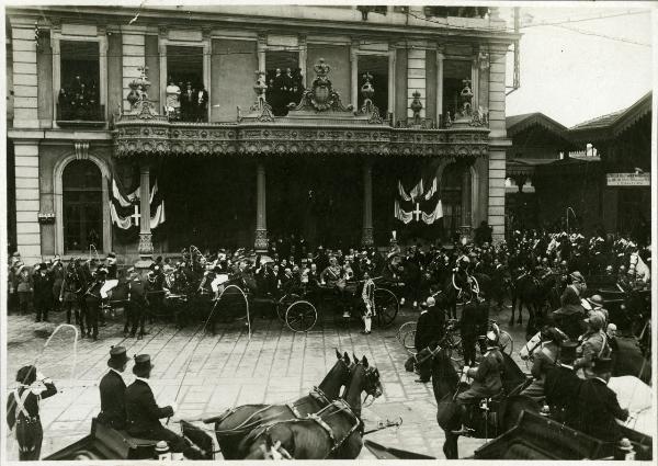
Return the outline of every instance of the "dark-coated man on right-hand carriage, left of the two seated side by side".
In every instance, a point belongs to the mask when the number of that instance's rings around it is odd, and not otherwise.
[[[546,371],[544,396],[555,419],[575,427],[578,421],[578,396],[582,380],[574,370],[576,360],[575,341],[565,341],[559,349],[558,364]]]

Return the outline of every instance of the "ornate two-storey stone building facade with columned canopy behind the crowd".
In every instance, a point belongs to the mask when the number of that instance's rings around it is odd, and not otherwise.
[[[518,36],[496,8],[11,7],[7,20],[10,248],[27,260],[211,237],[263,249],[314,208],[298,234],[316,243],[383,243],[404,228],[398,170],[452,183],[454,225],[502,238]],[[287,68],[276,107],[259,82]],[[170,84],[188,82],[196,110],[179,118]],[[155,184],[167,220],[151,230]],[[116,186],[139,200],[131,228],[114,221]]]

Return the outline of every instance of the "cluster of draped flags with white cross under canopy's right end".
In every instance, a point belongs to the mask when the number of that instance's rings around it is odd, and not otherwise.
[[[409,191],[405,191],[402,181],[398,180],[399,198],[395,200],[394,217],[407,225],[413,220],[423,221],[426,225],[432,225],[434,221],[443,217],[443,205],[439,195],[439,182],[436,178],[432,180],[428,190],[424,190],[422,178]],[[406,211],[402,206],[407,205],[410,211]]]

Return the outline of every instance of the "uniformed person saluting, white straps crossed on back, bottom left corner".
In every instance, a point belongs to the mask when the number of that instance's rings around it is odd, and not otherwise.
[[[57,394],[57,388],[53,380],[38,373],[33,365],[21,367],[16,374],[16,382],[19,387],[7,398],[7,423],[10,430],[15,427],[19,459],[37,461],[44,439],[39,401]],[[45,386],[45,390],[41,385]]]

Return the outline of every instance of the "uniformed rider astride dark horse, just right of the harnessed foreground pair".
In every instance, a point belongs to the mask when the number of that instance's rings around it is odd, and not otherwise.
[[[483,398],[496,396],[502,389],[503,357],[498,348],[498,333],[495,330],[487,332],[484,344],[486,352],[483,361],[477,367],[464,366],[462,374],[473,378],[470,388],[457,395],[456,402],[462,410],[462,428],[453,431],[456,435],[467,434],[470,430],[466,428],[468,410],[467,405],[475,405]]]

